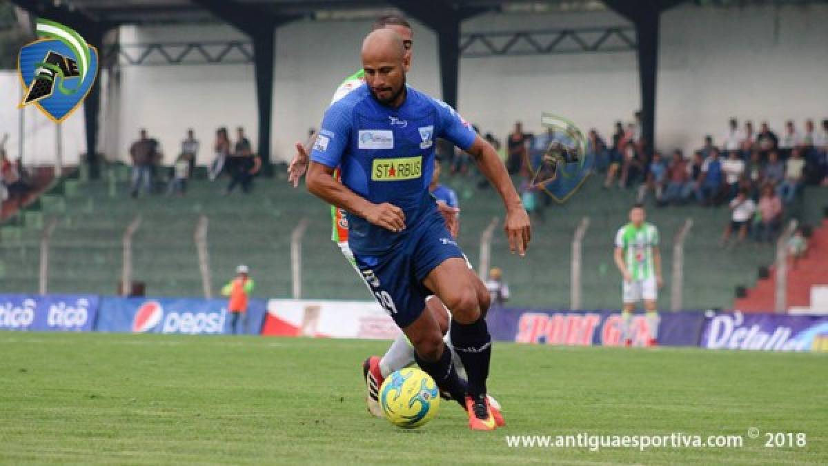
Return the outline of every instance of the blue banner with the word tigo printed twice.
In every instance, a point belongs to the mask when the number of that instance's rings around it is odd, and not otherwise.
[[[0,295],[0,329],[89,332],[99,302],[96,295]]]

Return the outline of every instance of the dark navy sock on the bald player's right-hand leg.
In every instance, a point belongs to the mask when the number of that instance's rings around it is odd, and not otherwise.
[[[471,324],[460,324],[452,319],[451,343],[469,377],[469,393],[474,396],[485,395],[489,361],[492,359],[492,336],[486,320],[480,317]]]

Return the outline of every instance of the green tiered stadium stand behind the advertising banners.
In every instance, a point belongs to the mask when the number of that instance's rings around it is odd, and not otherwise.
[[[302,297],[364,300],[363,285],[328,243],[329,211],[305,190],[294,190],[277,177],[258,180],[252,195],[219,195],[224,184],[192,180],[184,198],[150,196],[129,199],[128,167],[114,166],[113,181],[63,180],[39,202],[3,226],[0,292],[37,290],[41,230],[58,219],[51,243],[50,292],[117,293],[122,270],[122,238],[137,216],[142,225],[133,239],[133,279],[143,281],[147,295],[203,294],[194,244],[195,225],[209,218],[208,242],[212,289],[246,263],[257,277],[258,293],[288,297],[291,293],[290,236],[296,223],[309,220],[303,238]],[[203,178],[197,176],[196,178]],[[502,208],[493,190],[479,190],[474,177],[446,178],[460,196],[460,244],[477,263],[479,236]],[[792,209],[805,223],[820,220],[828,193],[809,188],[807,201]],[[620,280],[612,262],[614,233],[626,222],[635,190],[600,189],[590,179],[566,204],[546,211],[536,222],[527,257],[508,253],[503,235],[494,235],[491,265],[501,267],[511,284],[511,305],[566,308],[570,300],[571,240],[575,226],[590,217],[584,241],[585,309],[619,306]],[[758,267],[773,262],[773,247],[747,243],[723,250],[717,245],[728,215],[724,208],[696,206],[648,210],[661,231],[665,288],[659,304],[670,304],[673,238],[686,218],[694,220],[686,241],[684,305],[686,309],[729,309],[735,286],[753,286]]]

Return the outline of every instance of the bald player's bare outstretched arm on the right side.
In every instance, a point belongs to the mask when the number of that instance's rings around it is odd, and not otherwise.
[[[494,185],[494,189],[498,190],[500,198],[503,199],[506,207],[504,229],[509,240],[509,250],[517,251],[524,256],[529,247],[529,241],[532,239],[532,227],[529,224],[529,215],[523,209],[520,196],[517,195],[512,179],[506,171],[506,166],[503,166],[503,161],[498,157],[494,147],[482,137],[475,136],[474,142],[466,149],[466,152],[474,157],[480,172]]]

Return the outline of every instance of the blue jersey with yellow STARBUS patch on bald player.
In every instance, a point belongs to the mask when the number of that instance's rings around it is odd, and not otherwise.
[[[406,217],[406,229],[394,233],[348,214],[348,242],[355,253],[388,252],[407,232],[439,215],[428,191],[437,137],[467,151],[476,134],[449,105],[410,87],[399,108],[378,103],[363,84],[325,112],[310,160],[339,167],[350,190],[374,204],[396,205]]]

